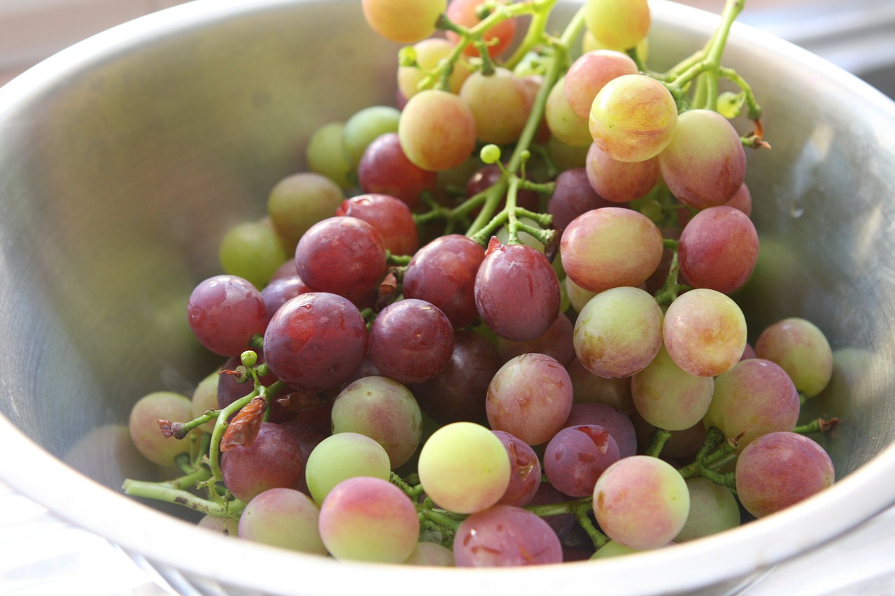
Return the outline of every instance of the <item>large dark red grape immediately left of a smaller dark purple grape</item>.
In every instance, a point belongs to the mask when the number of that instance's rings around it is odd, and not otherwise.
[[[366,353],[367,327],[360,311],[336,294],[296,296],[277,310],[264,335],[270,371],[303,391],[337,387]]]

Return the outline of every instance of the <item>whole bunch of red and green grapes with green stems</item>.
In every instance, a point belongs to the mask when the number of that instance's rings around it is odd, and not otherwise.
[[[321,123],[308,170],[226,234],[186,308],[220,368],[130,421],[183,475],[129,494],[340,559],[516,566],[831,485],[806,435],[834,422],[798,426],[831,346],[805,319],[750,345],[735,300],[758,253],[746,149],[769,147],[720,64],[742,0],[667,72],[646,0],[586,0],[559,33],[554,4],[363,0],[405,44],[396,105]]]

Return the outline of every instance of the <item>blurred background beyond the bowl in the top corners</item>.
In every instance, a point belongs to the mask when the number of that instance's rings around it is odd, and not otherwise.
[[[185,1],[0,0],[0,84],[82,38]],[[724,0],[682,4],[720,13]],[[823,56],[895,98],[895,0],[746,0],[739,20]]]

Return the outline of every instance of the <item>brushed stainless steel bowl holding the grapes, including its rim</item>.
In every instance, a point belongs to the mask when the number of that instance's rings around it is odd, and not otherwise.
[[[560,0],[567,21],[579,3]],[[717,15],[652,4],[651,63]],[[0,479],[120,545],[183,592],[325,595],[721,593],[895,503],[895,104],[778,38],[737,25],[724,63],[753,85],[770,151],[747,182],[762,252],[739,296],[755,329],[812,319],[833,346],[805,417],[838,482],[735,530],[629,558],[516,569],[339,563],[196,529],[124,496],[149,473],[122,424],[139,396],[209,370],[184,304],[217,239],[260,217],[321,123],[395,98],[398,47],[356,0],[197,0],[107,30],[0,89]],[[753,337],[754,338],[754,337]],[[650,573],[643,573],[649,569]]]

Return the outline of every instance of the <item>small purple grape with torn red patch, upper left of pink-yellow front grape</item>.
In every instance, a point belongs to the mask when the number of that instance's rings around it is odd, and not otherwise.
[[[553,488],[569,497],[586,497],[600,475],[618,462],[618,445],[595,424],[567,426],[544,449],[544,473]]]

